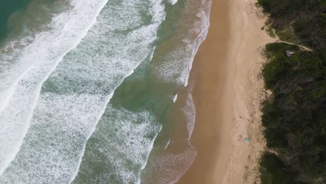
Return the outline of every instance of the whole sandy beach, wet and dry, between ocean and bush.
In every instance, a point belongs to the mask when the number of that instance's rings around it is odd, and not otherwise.
[[[274,39],[255,0],[213,0],[210,29],[191,71],[196,160],[178,183],[254,183],[265,148],[261,49]],[[249,141],[245,141],[245,137]]]

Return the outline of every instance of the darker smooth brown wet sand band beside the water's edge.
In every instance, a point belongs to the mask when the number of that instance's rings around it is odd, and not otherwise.
[[[196,124],[191,142],[198,153],[192,167],[178,183],[213,183],[213,178],[222,178],[225,171],[215,171],[215,166],[218,162],[226,166],[227,160],[219,158],[224,158],[231,148],[231,144],[227,144],[231,137],[222,135],[233,127],[232,121],[228,122],[230,125],[223,125],[226,123],[223,118],[228,116],[225,113],[233,111],[232,103],[224,104],[223,96],[225,88],[230,87],[226,83],[230,29],[228,1],[212,1],[211,8],[208,36],[196,54],[189,80],[194,83],[194,89],[190,91],[196,108]]]

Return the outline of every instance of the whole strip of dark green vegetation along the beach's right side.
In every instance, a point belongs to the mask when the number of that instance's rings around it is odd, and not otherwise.
[[[281,40],[265,46],[263,184],[326,183],[326,1],[258,0]],[[287,55],[287,53],[289,56]]]

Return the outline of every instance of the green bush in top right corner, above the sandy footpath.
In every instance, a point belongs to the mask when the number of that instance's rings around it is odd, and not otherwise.
[[[326,47],[325,0],[258,0],[281,40]]]

